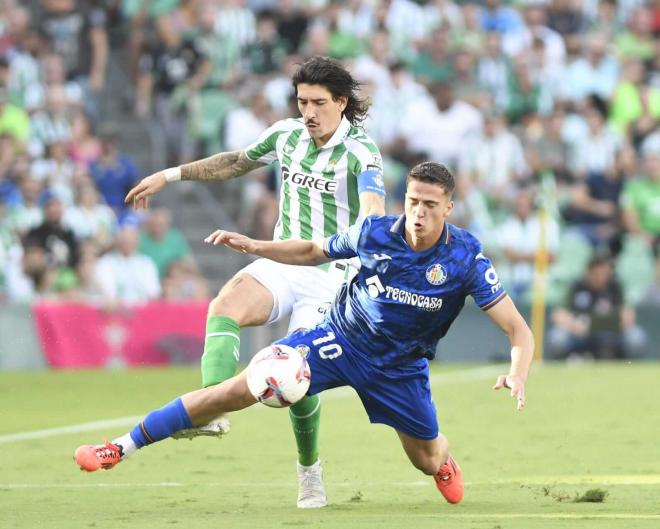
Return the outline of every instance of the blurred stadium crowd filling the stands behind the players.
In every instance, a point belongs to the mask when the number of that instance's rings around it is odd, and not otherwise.
[[[585,321],[628,335],[636,306],[660,304],[660,2],[0,6],[0,302],[208,298],[168,212],[123,203],[144,175],[101,98],[158,123],[176,165],[297,116],[292,71],[327,55],[372,102],[364,126],[389,213],[402,211],[407,170],[439,161],[458,184],[450,220],[484,241],[514,299],[530,301],[547,256],[556,354],[590,332]],[[110,60],[128,72],[123,94],[107,89]],[[271,238],[277,189],[268,169],[244,182],[237,222],[251,235]],[[611,273],[592,283],[603,262]]]

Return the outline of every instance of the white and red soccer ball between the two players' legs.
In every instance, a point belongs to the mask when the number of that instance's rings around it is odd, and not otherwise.
[[[247,367],[247,384],[254,397],[271,408],[284,408],[302,399],[309,389],[307,359],[288,345],[269,345]]]

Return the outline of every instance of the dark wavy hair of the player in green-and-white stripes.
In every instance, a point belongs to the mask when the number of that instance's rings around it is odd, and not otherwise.
[[[367,117],[369,102],[357,96],[360,83],[353,78],[350,72],[338,61],[329,57],[315,56],[307,59],[298,66],[298,70],[291,79],[293,88],[298,95],[298,85],[318,84],[324,86],[336,101],[346,97],[348,103],[344,109],[344,116],[351,125],[359,125]]]

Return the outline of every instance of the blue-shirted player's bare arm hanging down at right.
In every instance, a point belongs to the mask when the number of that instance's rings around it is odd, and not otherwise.
[[[534,356],[534,336],[510,297],[505,297],[486,311],[509,337],[511,367],[509,373],[497,377],[493,389],[508,388],[517,400],[518,411],[525,407],[525,383]]]

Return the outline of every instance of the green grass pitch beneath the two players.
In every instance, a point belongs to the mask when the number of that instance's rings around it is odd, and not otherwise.
[[[311,511],[295,506],[288,414],[264,406],[233,414],[222,440],[167,440],[112,471],[78,470],[77,445],[123,433],[131,416],[197,387],[196,369],[3,373],[0,527],[660,527],[660,364],[536,368],[521,413],[490,389],[500,370],[433,369],[441,429],[465,473],[457,506],[408,463],[389,428],[368,423],[352,390],[325,393],[330,505]],[[574,501],[590,489],[604,501]]]

